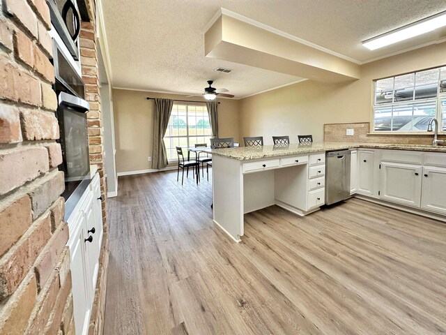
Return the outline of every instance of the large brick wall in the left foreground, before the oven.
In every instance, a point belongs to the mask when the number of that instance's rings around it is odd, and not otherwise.
[[[0,0],[0,334],[74,334],[45,0]]]

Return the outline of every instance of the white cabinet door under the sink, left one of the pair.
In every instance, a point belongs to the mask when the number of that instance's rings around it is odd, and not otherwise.
[[[421,165],[382,162],[381,171],[381,199],[420,207]]]

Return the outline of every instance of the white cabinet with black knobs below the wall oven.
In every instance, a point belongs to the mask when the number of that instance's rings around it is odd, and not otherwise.
[[[99,174],[68,218],[73,315],[77,335],[87,334],[93,306],[102,243]]]

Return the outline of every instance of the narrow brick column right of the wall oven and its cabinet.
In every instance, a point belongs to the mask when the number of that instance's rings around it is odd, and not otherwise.
[[[91,311],[89,334],[102,334],[105,296],[107,288],[107,271],[109,262],[109,244],[107,228],[107,181],[104,170],[104,146],[102,110],[100,100],[100,78],[98,68],[98,45],[95,26],[95,3],[87,0],[90,22],[82,22],[80,32],[82,79],[85,83],[86,101],[90,103],[87,114],[89,126],[90,163],[98,165],[100,176],[100,192],[102,195],[102,223],[104,237],[99,258],[98,283],[96,284],[95,298]]]

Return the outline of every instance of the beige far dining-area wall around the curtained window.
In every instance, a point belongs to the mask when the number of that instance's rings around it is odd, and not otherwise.
[[[116,141],[116,170],[128,172],[151,168],[148,156],[152,156],[153,110],[151,98],[170,98],[201,101],[199,96],[187,98],[174,94],[113,89],[114,126]],[[239,140],[239,102],[219,99],[219,135]],[[203,100],[204,101],[204,100]]]

